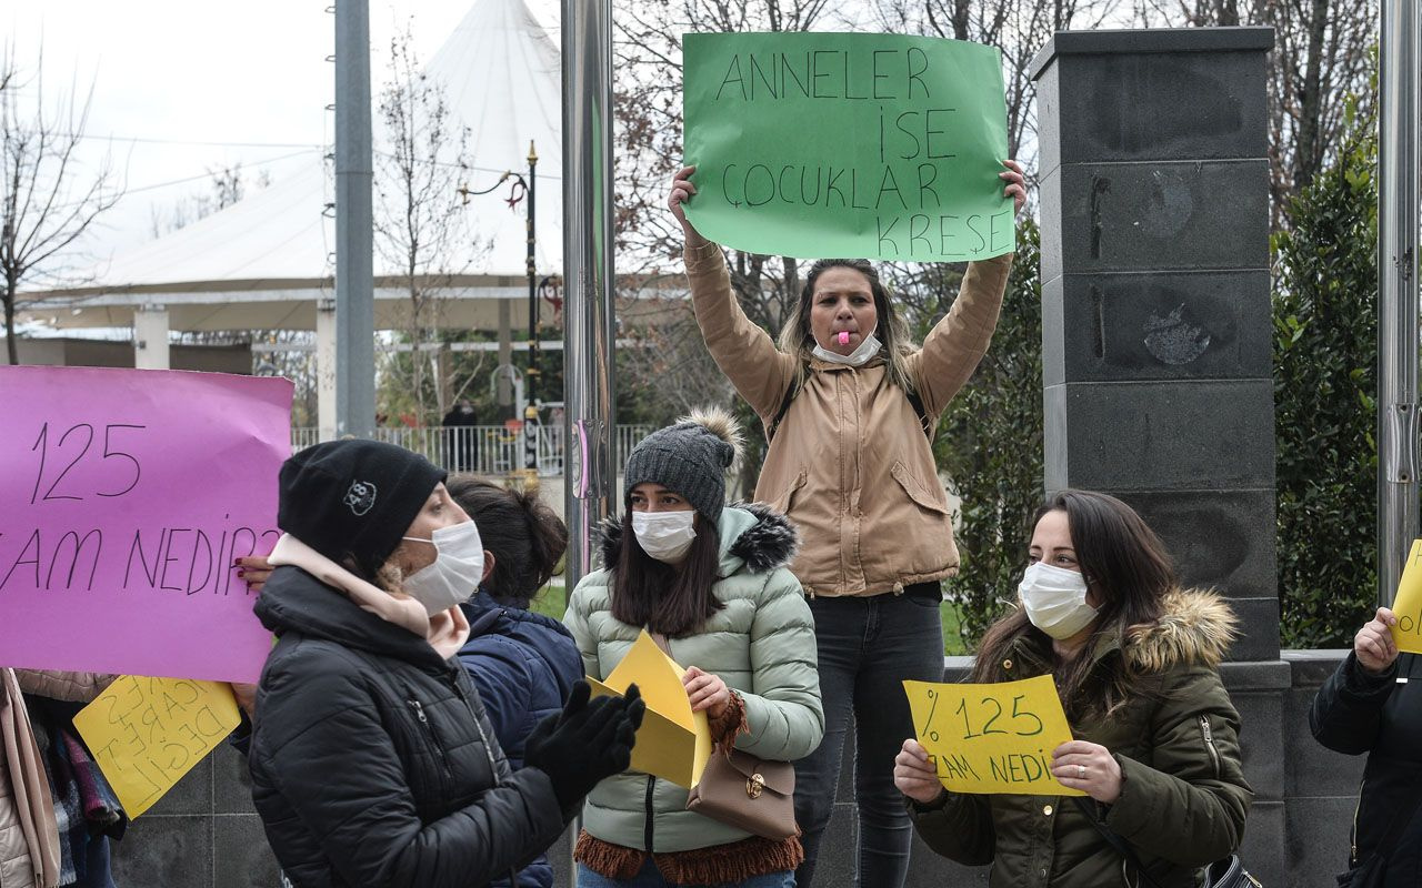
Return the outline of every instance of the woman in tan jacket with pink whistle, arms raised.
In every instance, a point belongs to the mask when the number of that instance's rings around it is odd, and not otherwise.
[[[1022,169],[1004,166],[1004,195],[1021,209]],[[921,348],[869,261],[816,261],[776,347],[737,303],[721,247],[687,220],[694,173],[677,173],[668,206],[685,233],[697,323],[765,423],[755,499],[784,511],[805,541],[791,570],[815,615],[825,742],[796,764],[805,845],[796,881],[805,888],[813,878],[853,715],[859,884],[897,888],[912,840],[892,773],[913,730],[903,681],[943,678],[940,581],[958,567],[930,438],[987,351],[1012,260],[970,263],[953,310]]]

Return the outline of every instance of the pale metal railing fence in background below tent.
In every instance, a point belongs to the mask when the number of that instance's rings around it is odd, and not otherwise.
[[[613,465],[621,466],[627,455],[656,429],[650,425],[620,425],[613,439]],[[543,477],[563,473],[563,426],[538,428],[538,472]],[[397,426],[375,429],[375,440],[400,445],[422,453],[437,466],[451,472],[503,475],[523,467],[523,431],[502,425],[466,426]],[[320,440],[314,428],[292,429],[292,452],[304,450]]]

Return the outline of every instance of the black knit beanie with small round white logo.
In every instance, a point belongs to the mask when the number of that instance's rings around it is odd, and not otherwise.
[[[337,564],[374,577],[445,472],[378,440],[328,440],[282,463],[276,524]]]

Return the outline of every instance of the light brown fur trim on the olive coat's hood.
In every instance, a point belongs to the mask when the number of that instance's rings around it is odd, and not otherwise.
[[[1175,666],[1219,666],[1239,637],[1239,617],[1214,590],[1175,588],[1166,592],[1163,614],[1153,624],[1133,627],[1122,655],[1142,672]]]

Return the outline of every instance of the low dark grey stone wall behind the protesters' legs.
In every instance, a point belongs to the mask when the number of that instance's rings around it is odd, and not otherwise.
[[[1256,793],[1241,855],[1270,888],[1331,887],[1347,864],[1362,757],[1328,752],[1308,733],[1308,706],[1342,654],[1285,651],[1281,661],[1223,669],[1243,722],[1244,774]],[[954,656],[946,665],[944,681],[961,681],[970,661]],[[853,732],[816,879],[823,888],[853,884],[852,787]],[[550,857],[560,885],[570,888],[567,841],[565,835]],[[114,848],[114,874],[119,888],[277,888],[242,757],[219,747],[139,817]],[[909,888],[985,884],[985,867],[960,867],[916,841]]]

